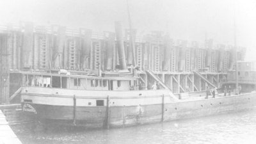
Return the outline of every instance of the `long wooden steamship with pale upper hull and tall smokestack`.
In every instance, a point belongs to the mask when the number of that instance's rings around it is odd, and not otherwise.
[[[22,72],[20,95],[23,111],[44,124],[54,122],[109,128],[216,115],[255,106],[256,93],[252,92],[254,82],[250,92],[244,91],[239,95],[231,93],[227,96],[219,93],[215,98],[209,96],[208,99],[205,99],[205,90],[173,93],[150,70],[146,71],[147,76],[159,86],[152,90],[150,86],[147,88],[145,84],[141,85],[137,67],[127,68],[125,63],[121,31],[117,23],[120,70],[116,72]],[[201,76],[200,72],[195,74]],[[204,76],[201,78],[207,81]],[[221,86],[228,84],[234,87],[228,81],[223,81]],[[209,83],[208,86],[216,89],[214,84]],[[218,91],[221,92],[221,89]]]

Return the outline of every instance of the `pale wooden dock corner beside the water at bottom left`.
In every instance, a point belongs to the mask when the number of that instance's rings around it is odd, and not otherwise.
[[[21,144],[19,138],[12,131],[3,112],[0,110],[0,144]]]

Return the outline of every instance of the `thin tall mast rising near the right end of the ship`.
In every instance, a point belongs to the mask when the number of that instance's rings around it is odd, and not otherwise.
[[[236,42],[236,0],[234,0],[234,47],[235,47],[235,61],[236,61],[236,95],[238,94],[238,63],[237,63],[237,42]]]

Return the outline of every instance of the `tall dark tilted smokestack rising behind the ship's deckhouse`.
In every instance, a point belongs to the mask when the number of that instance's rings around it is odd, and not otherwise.
[[[121,25],[120,22],[115,22],[115,30],[116,30],[116,42],[117,42],[120,69],[121,70],[127,70],[127,66],[126,66],[126,63],[125,63],[124,40],[123,40],[123,33],[122,33],[122,25]]]

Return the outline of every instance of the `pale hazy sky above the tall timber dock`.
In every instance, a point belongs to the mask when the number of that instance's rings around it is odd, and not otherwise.
[[[256,61],[255,0],[128,0],[132,28],[138,33],[164,31],[174,40],[247,48],[246,60]],[[0,24],[20,21],[36,25],[115,31],[115,21],[128,28],[127,0],[0,0]]]

